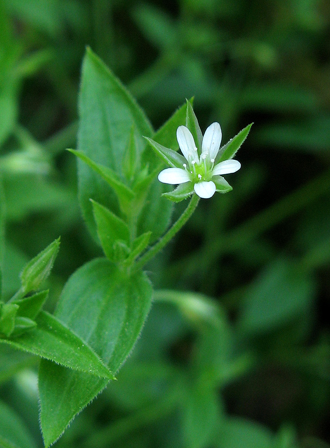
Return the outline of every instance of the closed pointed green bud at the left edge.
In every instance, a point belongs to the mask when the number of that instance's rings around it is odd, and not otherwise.
[[[20,274],[24,294],[37,290],[40,284],[48,277],[59,247],[60,238],[57,238],[24,267]]]

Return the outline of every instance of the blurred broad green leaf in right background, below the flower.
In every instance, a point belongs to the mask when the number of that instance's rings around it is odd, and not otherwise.
[[[275,260],[244,294],[238,327],[248,335],[274,331],[308,313],[314,294],[311,275],[290,260]]]

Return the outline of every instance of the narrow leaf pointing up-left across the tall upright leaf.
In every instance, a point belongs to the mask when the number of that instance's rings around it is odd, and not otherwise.
[[[129,209],[131,200],[134,198],[133,191],[129,187],[127,187],[127,185],[122,183],[118,175],[108,166],[104,166],[94,162],[81,151],[76,151],[75,149],[68,149],[68,151],[79,157],[90,168],[92,168],[93,171],[100,174],[102,179],[104,179],[107,184],[110,185],[110,187],[113,189],[113,191],[117,195],[121,210],[126,213]]]

